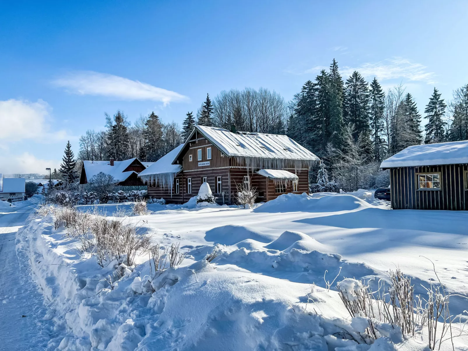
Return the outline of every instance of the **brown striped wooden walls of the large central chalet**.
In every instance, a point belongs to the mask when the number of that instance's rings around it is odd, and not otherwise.
[[[148,196],[164,198],[168,203],[185,203],[190,197],[197,195],[200,185],[205,180],[210,185],[213,195],[217,197],[218,204],[231,205],[236,203],[237,186],[244,182],[246,176],[249,177],[251,186],[256,188],[257,202],[269,201],[289,192],[300,194],[309,191],[308,168],[297,172],[293,168],[284,168],[299,177],[296,189],[292,189],[292,182],[286,183],[284,188],[275,186],[272,179],[257,174],[258,169],[247,168],[242,159],[223,154],[197,130],[183,147],[177,162],[182,165],[182,171],[174,177],[172,189],[150,182]]]

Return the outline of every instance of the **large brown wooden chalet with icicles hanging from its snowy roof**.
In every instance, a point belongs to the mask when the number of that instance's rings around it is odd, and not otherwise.
[[[309,168],[320,159],[286,135],[197,125],[185,144],[139,174],[148,195],[184,203],[207,182],[219,204],[234,204],[237,187],[252,186],[257,201],[308,193]]]

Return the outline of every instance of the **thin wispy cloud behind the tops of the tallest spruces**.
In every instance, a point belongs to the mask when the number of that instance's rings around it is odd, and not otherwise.
[[[312,67],[304,73],[318,73],[324,66]],[[434,84],[435,73],[427,70],[427,67],[420,63],[410,62],[408,59],[394,58],[385,59],[375,63],[364,63],[357,67],[344,66],[340,68],[340,73],[346,77],[354,71],[358,71],[364,77],[377,80],[404,79],[409,81],[420,81],[427,84]]]

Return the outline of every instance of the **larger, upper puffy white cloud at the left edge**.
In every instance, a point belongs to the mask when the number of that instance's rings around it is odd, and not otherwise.
[[[35,139],[42,142],[66,138],[65,131],[49,132],[47,119],[51,110],[47,102],[10,99],[0,101],[0,148],[6,142]]]

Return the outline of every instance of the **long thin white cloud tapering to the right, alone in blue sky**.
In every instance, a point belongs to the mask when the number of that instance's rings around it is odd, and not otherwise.
[[[174,91],[157,88],[138,80],[92,71],[69,73],[53,80],[52,83],[79,95],[103,95],[124,100],[153,100],[163,102],[164,105],[188,99]]]

